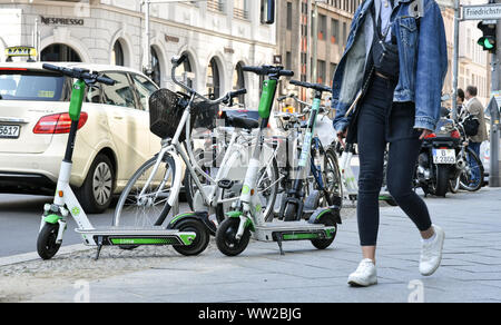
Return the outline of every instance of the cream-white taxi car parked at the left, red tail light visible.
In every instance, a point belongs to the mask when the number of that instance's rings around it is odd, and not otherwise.
[[[160,149],[149,131],[149,96],[158,87],[122,67],[57,63],[101,71],[115,86],[89,89],[82,106],[70,184],[88,213],[102,213],[112,194]],[[0,191],[53,195],[65,155],[73,80],[42,62],[0,63]]]

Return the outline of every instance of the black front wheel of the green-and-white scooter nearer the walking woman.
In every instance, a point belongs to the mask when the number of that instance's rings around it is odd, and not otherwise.
[[[245,229],[240,240],[235,238],[238,233],[240,219],[227,218],[224,220],[216,232],[216,244],[219,252],[226,256],[237,256],[247,248],[250,240],[250,230]]]

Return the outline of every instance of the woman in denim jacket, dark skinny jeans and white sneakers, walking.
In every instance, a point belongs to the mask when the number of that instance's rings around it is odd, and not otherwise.
[[[421,233],[420,272],[429,276],[440,266],[445,235],[432,224],[412,179],[422,140],[440,118],[446,68],[443,19],[434,0],[365,0],[358,7],[334,75],[332,101],[340,140],[356,142],[360,152],[363,259],[348,277],[352,286],[377,283],[379,194],[387,144],[387,187]]]

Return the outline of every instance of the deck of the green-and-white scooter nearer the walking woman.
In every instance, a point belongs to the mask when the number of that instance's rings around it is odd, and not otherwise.
[[[331,238],[336,226],[306,221],[273,221],[256,226],[255,238],[262,242],[312,240]]]

